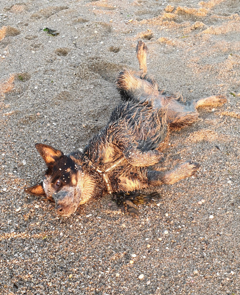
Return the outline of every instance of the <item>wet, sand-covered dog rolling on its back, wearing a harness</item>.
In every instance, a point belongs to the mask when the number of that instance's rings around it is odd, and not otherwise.
[[[113,192],[128,192],[173,184],[192,176],[199,164],[190,160],[168,172],[149,168],[162,159],[169,128],[197,120],[196,108],[217,106],[225,96],[213,95],[186,104],[181,97],[164,94],[147,75],[147,46],[137,45],[140,70],[123,70],[117,80],[122,95],[106,125],[89,140],[84,150],[65,155],[49,145],[36,144],[47,165],[44,179],[25,192],[46,196],[57,213],[69,216],[91,198]]]

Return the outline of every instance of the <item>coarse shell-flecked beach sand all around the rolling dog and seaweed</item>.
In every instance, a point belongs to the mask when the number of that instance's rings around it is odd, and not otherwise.
[[[240,294],[239,1],[1,0],[0,12],[0,293]],[[57,217],[23,193],[45,169],[34,144],[70,152],[104,126],[139,38],[168,93],[227,96],[173,133],[156,167],[201,168],[138,219],[110,196]]]

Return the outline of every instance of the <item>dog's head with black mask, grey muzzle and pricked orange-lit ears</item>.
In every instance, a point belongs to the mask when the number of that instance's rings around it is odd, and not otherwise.
[[[80,156],[65,155],[50,145],[36,144],[36,149],[47,165],[43,181],[24,191],[35,196],[46,196],[55,202],[58,214],[69,216],[93,196],[96,183],[83,170]]]

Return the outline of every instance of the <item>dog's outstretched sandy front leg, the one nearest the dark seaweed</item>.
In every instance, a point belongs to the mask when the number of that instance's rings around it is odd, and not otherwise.
[[[200,165],[197,162],[186,161],[168,172],[148,170],[149,185],[161,186],[163,184],[173,184],[181,179],[194,175],[199,167]]]

